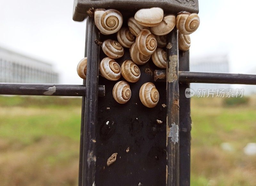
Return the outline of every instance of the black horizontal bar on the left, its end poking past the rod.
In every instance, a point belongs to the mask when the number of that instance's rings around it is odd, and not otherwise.
[[[85,85],[0,83],[0,94],[36,96],[85,96]],[[105,96],[105,86],[99,86],[99,96]]]

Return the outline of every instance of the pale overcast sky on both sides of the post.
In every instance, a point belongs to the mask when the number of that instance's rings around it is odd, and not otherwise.
[[[256,73],[253,0],[199,0],[191,57],[225,54],[234,73]],[[85,22],[72,20],[73,0],[0,0],[0,46],[54,64],[60,83],[81,84]]]

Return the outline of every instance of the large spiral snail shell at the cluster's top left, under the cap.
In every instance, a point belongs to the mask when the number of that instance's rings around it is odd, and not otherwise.
[[[105,35],[118,32],[123,25],[122,14],[113,9],[94,11],[94,20],[97,28]]]

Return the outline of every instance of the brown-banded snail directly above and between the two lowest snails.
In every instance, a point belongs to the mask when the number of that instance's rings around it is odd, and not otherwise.
[[[140,79],[140,69],[132,60],[126,60],[121,66],[121,73],[127,81],[135,83]]]

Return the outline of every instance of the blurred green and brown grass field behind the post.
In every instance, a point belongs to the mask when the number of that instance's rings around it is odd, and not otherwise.
[[[191,185],[256,185],[256,99],[194,98],[191,117]],[[0,97],[0,185],[77,185],[80,120],[78,98]]]

